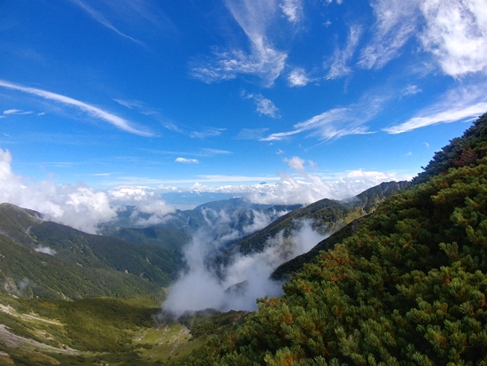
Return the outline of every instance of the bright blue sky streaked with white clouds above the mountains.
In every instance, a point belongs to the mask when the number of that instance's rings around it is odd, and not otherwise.
[[[487,112],[484,0],[16,0],[0,17],[4,201],[344,198],[414,176]]]

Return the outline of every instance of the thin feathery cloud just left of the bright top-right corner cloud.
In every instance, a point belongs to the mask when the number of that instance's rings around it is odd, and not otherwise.
[[[442,2],[443,3],[443,2]],[[374,35],[362,51],[359,66],[381,68],[397,58],[400,49],[417,30],[418,0],[373,0]]]

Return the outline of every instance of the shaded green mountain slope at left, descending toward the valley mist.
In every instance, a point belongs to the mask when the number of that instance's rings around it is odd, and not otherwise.
[[[77,299],[158,292],[182,268],[181,255],[90,235],[11,204],[0,205],[0,291]]]

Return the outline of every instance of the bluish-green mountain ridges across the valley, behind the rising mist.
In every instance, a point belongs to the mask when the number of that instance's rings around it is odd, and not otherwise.
[[[131,222],[135,207],[128,206],[117,222],[102,228],[103,235],[44,221],[41,213],[1,204],[0,291],[58,299],[158,292],[184,268],[182,248],[191,236],[222,216],[230,218],[227,225],[239,237],[208,259],[212,266],[228,264],[234,253],[262,251],[267,238],[282,230],[289,235],[303,220],[312,220],[313,227],[323,233],[336,231],[371,212],[377,203],[407,184],[382,183],[352,199],[322,199],[305,207],[224,199],[178,210],[151,227]],[[257,215],[259,219],[265,217],[259,222],[261,227],[256,223]]]

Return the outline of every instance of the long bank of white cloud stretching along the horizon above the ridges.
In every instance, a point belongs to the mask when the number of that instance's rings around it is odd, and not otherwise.
[[[301,179],[281,175],[279,183],[220,187],[196,184],[189,190],[164,186],[158,189],[147,186],[119,186],[102,191],[82,183],[58,185],[52,181],[33,181],[16,175],[12,172],[11,153],[0,149],[0,203],[7,202],[33,209],[43,214],[44,219],[97,233],[99,225],[116,220],[117,214],[126,210],[127,206],[135,206],[130,215],[135,226],[147,227],[171,220],[171,214],[174,214],[176,208],[163,199],[168,192],[179,192],[181,195],[188,192],[226,193],[244,197],[253,203],[271,205],[310,204],[322,197],[349,198],[373,185],[397,178],[395,175],[379,172],[355,171],[333,182],[325,182],[320,176],[305,172],[305,160],[293,157],[288,160],[288,164],[301,175]],[[308,162],[309,164],[313,165],[313,162]],[[259,228],[261,229],[260,226]]]

